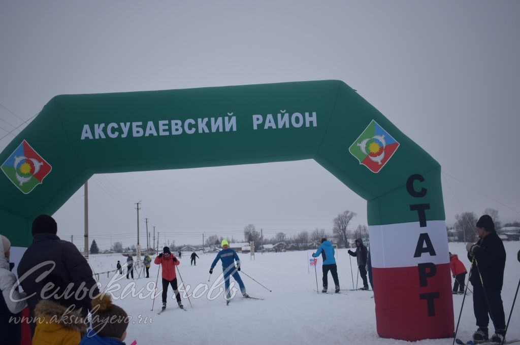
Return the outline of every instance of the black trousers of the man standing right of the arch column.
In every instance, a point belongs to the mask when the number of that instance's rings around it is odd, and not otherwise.
[[[475,313],[475,319],[477,319],[477,326],[487,327],[489,324],[489,314],[491,315],[491,321],[495,329],[505,329],[504,306],[502,304],[500,290],[496,288],[486,288],[486,295],[484,295],[482,285],[473,285],[473,312]],[[490,308],[488,308],[487,302],[489,302]]]

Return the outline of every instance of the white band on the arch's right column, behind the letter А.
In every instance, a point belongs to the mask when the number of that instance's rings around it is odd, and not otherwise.
[[[419,222],[370,225],[368,231],[372,267],[396,268],[417,266],[424,262],[448,263],[450,258],[446,222],[428,220],[426,225],[424,228],[419,226]],[[418,258],[413,257],[421,233],[428,233],[430,236],[435,256],[422,253]],[[422,243],[422,246],[425,247],[426,244]]]

